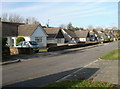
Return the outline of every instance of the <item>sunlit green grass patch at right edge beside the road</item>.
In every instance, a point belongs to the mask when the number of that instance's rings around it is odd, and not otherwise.
[[[103,55],[100,58],[104,59],[104,60],[120,60],[119,54],[120,54],[120,49],[116,49],[116,50],[113,50],[113,51]]]

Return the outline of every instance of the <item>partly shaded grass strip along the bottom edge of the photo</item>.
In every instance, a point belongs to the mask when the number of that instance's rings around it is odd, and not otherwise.
[[[95,88],[96,87],[96,88]],[[115,89],[116,85],[107,82],[95,82],[89,80],[74,80],[56,82],[40,89]]]

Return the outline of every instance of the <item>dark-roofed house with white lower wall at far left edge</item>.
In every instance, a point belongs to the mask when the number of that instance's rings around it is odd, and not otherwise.
[[[18,26],[23,23],[1,22],[2,37],[7,38],[8,46],[16,46],[16,38],[18,36]]]

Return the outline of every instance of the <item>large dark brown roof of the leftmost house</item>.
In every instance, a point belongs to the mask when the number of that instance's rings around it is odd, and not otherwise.
[[[2,28],[2,36],[18,36],[18,26],[23,23],[2,22],[0,28]]]

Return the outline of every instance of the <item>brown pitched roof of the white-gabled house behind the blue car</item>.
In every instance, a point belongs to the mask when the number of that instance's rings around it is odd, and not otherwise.
[[[18,36],[30,36],[40,24],[25,24],[18,27]]]

